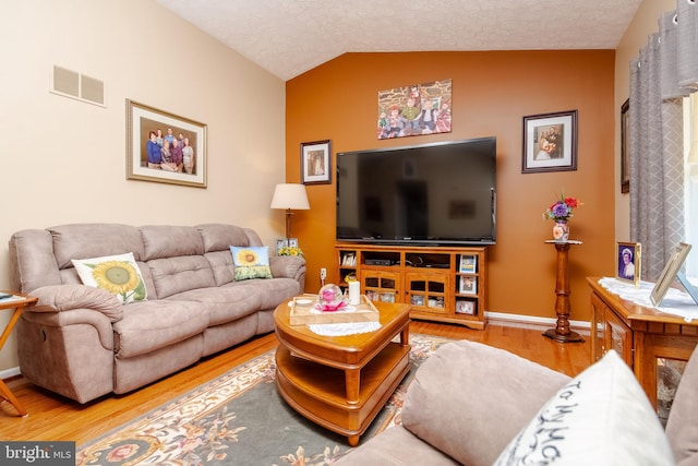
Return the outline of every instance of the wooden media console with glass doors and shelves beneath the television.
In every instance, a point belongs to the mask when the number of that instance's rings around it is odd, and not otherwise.
[[[411,306],[410,318],[483,330],[488,310],[485,247],[405,247],[340,242],[342,289],[358,280],[378,302]]]

